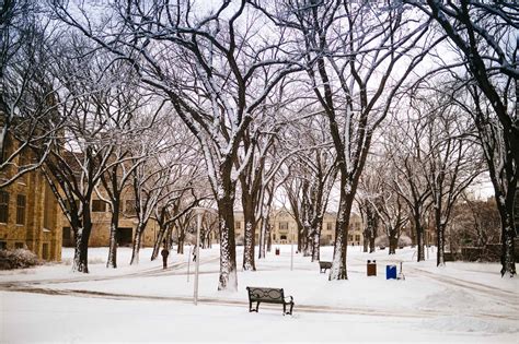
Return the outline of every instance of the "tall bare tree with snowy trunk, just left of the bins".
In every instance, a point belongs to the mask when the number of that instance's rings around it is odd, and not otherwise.
[[[416,25],[400,4],[379,1],[284,4],[276,20],[303,47],[309,84],[336,151],[341,195],[330,280],[345,280],[350,212],[372,135],[424,59],[428,25]],[[428,47],[441,39],[429,38]]]

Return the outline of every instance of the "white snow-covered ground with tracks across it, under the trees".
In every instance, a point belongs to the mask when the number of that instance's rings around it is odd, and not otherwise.
[[[64,263],[0,272],[0,343],[30,342],[471,342],[519,343],[519,278],[501,278],[498,264],[448,263],[435,254],[414,262],[415,250],[348,250],[348,281],[328,282],[319,264],[290,246],[239,272],[237,293],[217,292],[218,247],[201,251],[199,303],[193,304],[194,266],[187,254],[170,254],[170,268],[138,266],[119,248],[119,268],[105,268],[107,249],[90,249],[90,274]],[[187,252],[187,249],[186,249]],[[242,250],[239,248],[239,266]],[[322,260],[332,248],[322,248]],[[367,276],[366,261],[378,275]],[[385,265],[403,261],[405,281],[385,280]],[[399,269],[400,272],[400,269]],[[274,286],[292,295],[293,316],[280,305],[249,312],[246,286]]]

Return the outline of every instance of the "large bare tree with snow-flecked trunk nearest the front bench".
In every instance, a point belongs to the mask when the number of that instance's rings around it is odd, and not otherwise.
[[[218,289],[237,289],[233,205],[243,169],[234,163],[258,106],[285,75],[300,69],[286,64],[285,39],[245,0],[204,12],[191,2],[116,1],[95,27],[88,11],[53,4],[61,21],[134,66],[199,141],[219,211]],[[262,35],[261,26],[272,26],[272,35]]]

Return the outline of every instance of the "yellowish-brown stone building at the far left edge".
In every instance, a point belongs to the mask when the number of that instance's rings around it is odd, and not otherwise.
[[[5,153],[13,152],[8,146]],[[32,158],[22,152],[15,164]],[[0,173],[5,180],[13,176],[16,166]],[[61,259],[61,225],[58,202],[45,177],[38,170],[30,171],[0,190],[0,249],[26,248],[39,259]]]

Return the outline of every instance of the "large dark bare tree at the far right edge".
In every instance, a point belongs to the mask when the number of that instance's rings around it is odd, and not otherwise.
[[[478,91],[470,90],[475,98],[474,103],[477,106],[486,103],[484,109],[470,112],[473,114],[480,132],[501,215],[501,275],[514,276],[514,238],[517,235],[514,200],[519,178],[517,5],[507,1],[489,3],[476,0],[404,2],[418,8],[448,35],[459,49],[461,64],[469,71],[470,80],[477,85]],[[515,105],[509,100],[514,97]]]

